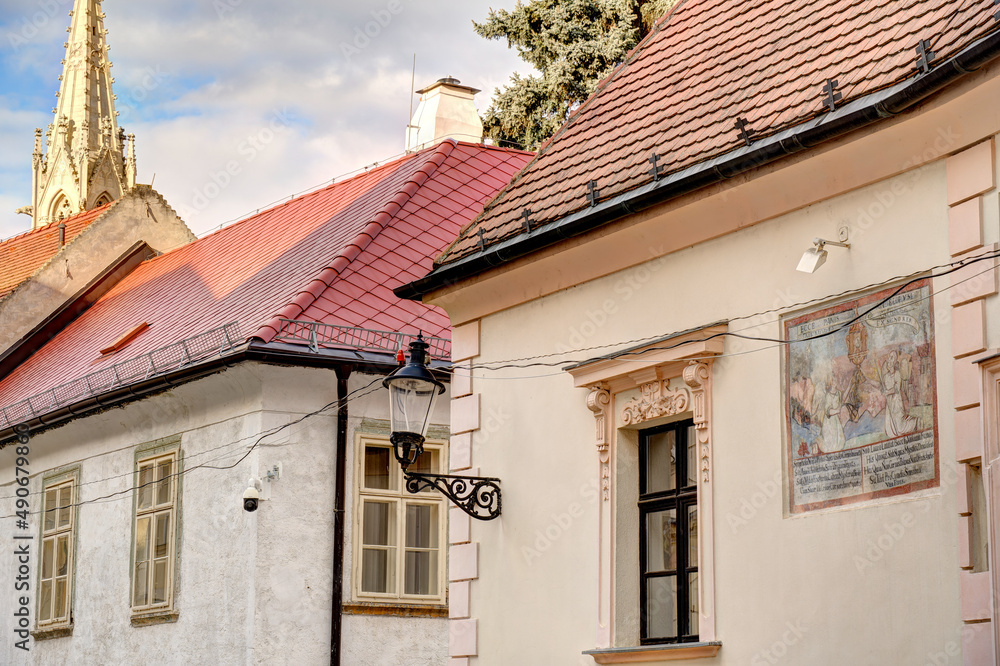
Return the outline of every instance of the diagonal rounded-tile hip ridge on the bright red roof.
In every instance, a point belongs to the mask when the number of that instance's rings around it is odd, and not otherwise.
[[[458,142],[447,139],[441,142],[427,156],[424,164],[400,186],[396,195],[375,213],[368,224],[347,245],[345,245],[330,262],[330,265],[320,271],[292,300],[281,308],[271,319],[265,322],[250,337],[262,342],[270,342],[282,329],[282,319],[296,319],[312,305],[320,295],[333,284],[333,281],[354,261],[368,245],[375,240],[395,218],[403,206],[426,183],[442,164],[451,156]],[[419,153],[417,153],[419,155]],[[391,211],[391,212],[390,212]]]

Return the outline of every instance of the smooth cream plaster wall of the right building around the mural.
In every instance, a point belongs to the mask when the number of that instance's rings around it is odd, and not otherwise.
[[[873,210],[878,214],[863,214]],[[994,226],[995,217],[987,214]],[[815,274],[794,270],[813,237],[835,239],[845,223],[849,251],[828,248],[829,260]],[[938,161],[491,315],[482,321],[477,361],[666,335],[861,290],[948,262],[947,233]],[[989,231],[987,241],[996,234]],[[634,251],[649,255],[655,247]],[[923,664],[960,642],[948,286],[947,278],[934,282],[942,482],[920,494],[786,518],[774,483],[783,469],[781,350],[727,339],[733,356],[715,365],[713,420],[723,649],[699,663],[772,663],[764,651],[780,645],[779,661],[788,664]],[[729,325],[747,328],[781,335],[775,316]],[[735,355],[751,350],[757,351]],[[484,417],[492,412],[500,423],[475,434],[474,464],[499,476],[504,492],[501,519],[473,525],[473,540],[481,543],[480,578],[472,586],[472,616],[479,620],[474,663],[592,664],[581,655],[594,647],[597,617],[598,463],[587,391],[574,389],[558,367],[490,372],[474,380],[473,390],[482,395]],[[620,444],[634,446],[629,438]],[[761,493],[761,506],[745,524],[727,522]],[[582,510],[579,518],[570,516],[574,508]],[[900,532],[904,519],[909,526]],[[859,567],[855,558],[868,556],[887,533],[891,547],[873,551],[871,566]],[[637,573],[619,562],[617,574],[618,644],[634,645],[625,634],[629,622],[637,631],[638,587],[630,599],[625,579]]]

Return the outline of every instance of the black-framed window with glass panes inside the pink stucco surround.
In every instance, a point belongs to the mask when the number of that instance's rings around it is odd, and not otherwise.
[[[698,464],[694,422],[639,437],[642,643],[698,640]]]

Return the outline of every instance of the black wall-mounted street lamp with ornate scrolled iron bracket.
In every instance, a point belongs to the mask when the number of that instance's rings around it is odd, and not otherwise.
[[[473,518],[493,520],[500,516],[500,479],[454,474],[424,474],[408,468],[424,452],[424,438],[437,397],[444,384],[427,368],[423,335],[410,342],[410,362],[385,378],[389,389],[389,418],[393,454],[403,468],[406,489],[418,493],[435,488]]]

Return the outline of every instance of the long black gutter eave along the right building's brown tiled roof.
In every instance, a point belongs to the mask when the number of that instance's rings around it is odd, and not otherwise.
[[[652,206],[731,179],[783,157],[813,148],[912,108],[1000,57],[1000,31],[977,40],[938,67],[747,147],[696,164],[591,208],[542,225],[528,233],[435,268],[423,278],[397,287],[399,298],[419,301],[492,268],[579,236]]]

